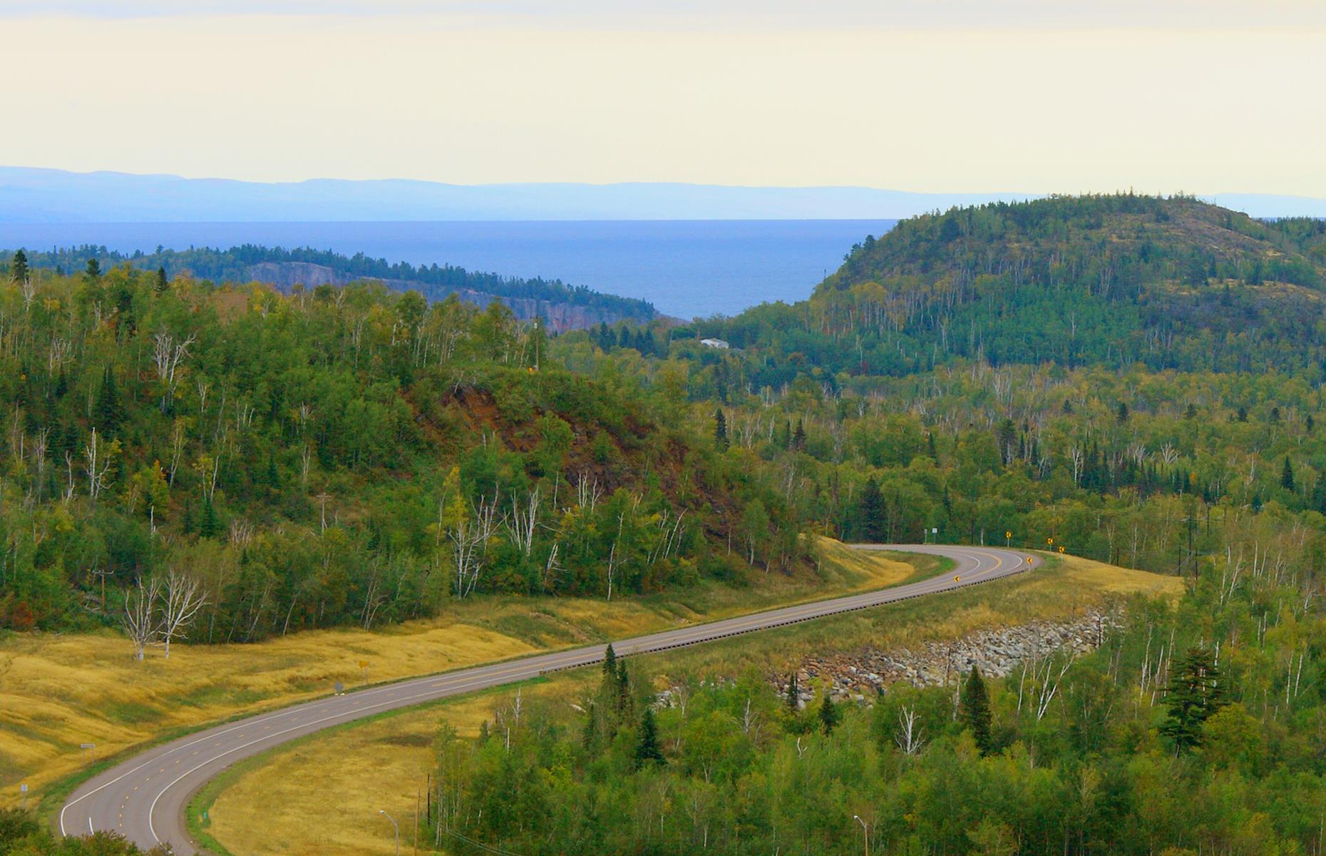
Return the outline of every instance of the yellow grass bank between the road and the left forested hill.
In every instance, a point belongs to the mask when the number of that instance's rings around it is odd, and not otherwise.
[[[212,722],[347,687],[898,584],[911,565],[823,543],[819,577],[704,584],[611,604],[476,597],[375,632],[316,630],[255,645],[175,645],[134,662],[114,632],[0,638],[0,804],[19,783],[53,808],[89,767]],[[924,568],[923,568],[924,569]],[[937,572],[940,568],[931,568]],[[367,664],[361,666],[359,664]],[[80,750],[94,743],[93,750]]]

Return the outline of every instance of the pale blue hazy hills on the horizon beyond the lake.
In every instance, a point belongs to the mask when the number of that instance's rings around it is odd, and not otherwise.
[[[899,219],[955,206],[1042,195],[648,182],[446,184],[408,179],[312,179],[261,183],[0,167],[0,220],[8,223]],[[1220,194],[1212,200],[1252,216],[1326,216],[1326,199]]]

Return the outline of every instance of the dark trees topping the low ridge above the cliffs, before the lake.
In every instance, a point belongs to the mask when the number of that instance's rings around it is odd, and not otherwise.
[[[583,285],[568,285],[561,280],[545,280],[541,277],[518,279],[501,276],[500,273],[467,271],[451,264],[439,265],[434,263],[415,267],[404,261],[390,263],[386,259],[373,259],[362,252],[346,256],[330,250],[313,250],[310,247],[294,250],[261,247],[257,244],[243,244],[240,247],[231,247],[229,250],[212,247],[166,250],[164,247],[158,247],[156,252],[145,253],[135,251],[131,255],[126,255],[97,244],[82,244],[78,247],[52,248],[45,252],[29,250],[27,255],[28,264],[32,267],[50,268],[61,273],[82,271],[89,259],[97,259],[103,268],[129,261],[134,267],[143,269],[164,268],[166,275],[171,279],[187,273],[196,279],[216,283],[248,281],[251,279],[248,269],[255,264],[320,264],[343,275],[347,280],[404,280],[411,283],[414,288],[430,300],[442,300],[455,291],[471,289],[499,297],[545,300],[549,303],[606,309],[630,319],[647,320],[658,315],[658,311],[648,301],[605,295]],[[0,259],[8,263],[11,257],[12,251],[0,252]]]

